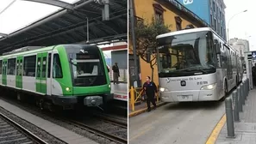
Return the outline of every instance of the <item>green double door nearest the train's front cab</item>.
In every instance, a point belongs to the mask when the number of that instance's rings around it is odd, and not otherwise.
[[[36,92],[47,93],[47,52],[37,54]]]

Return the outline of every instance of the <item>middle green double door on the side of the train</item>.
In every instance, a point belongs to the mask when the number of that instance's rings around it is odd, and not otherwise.
[[[16,60],[16,87],[22,88],[22,75],[23,75],[23,57],[17,57]]]

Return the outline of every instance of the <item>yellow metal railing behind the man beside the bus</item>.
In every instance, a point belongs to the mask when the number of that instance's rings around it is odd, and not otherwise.
[[[144,94],[143,89],[141,87],[138,87],[138,88],[131,87],[129,89],[129,105],[131,106],[132,111],[135,111],[135,103],[141,102],[144,100],[142,99],[143,94]],[[159,93],[157,93],[156,95],[156,104],[158,103],[159,103]]]

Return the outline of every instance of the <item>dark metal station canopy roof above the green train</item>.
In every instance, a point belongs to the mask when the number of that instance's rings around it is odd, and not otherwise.
[[[127,0],[109,0],[109,21],[103,21],[101,1],[80,0],[67,3],[63,5],[63,8],[59,9],[58,7],[59,10],[28,26],[7,34],[0,32],[2,36],[0,36],[0,53],[24,46],[85,44],[87,41],[87,18],[89,20],[89,44],[112,40],[127,41]]]

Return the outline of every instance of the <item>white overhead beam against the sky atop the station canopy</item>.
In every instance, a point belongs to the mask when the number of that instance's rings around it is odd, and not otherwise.
[[[44,4],[49,4],[49,5],[53,5],[56,7],[64,8],[64,9],[74,9],[74,6],[71,3],[66,3],[63,1],[59,1],[59,0],[22,0],[22,1],[29,1],[29,2],[34,2],[34,3],[44,3]]]

